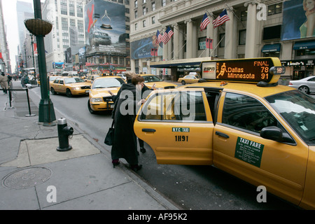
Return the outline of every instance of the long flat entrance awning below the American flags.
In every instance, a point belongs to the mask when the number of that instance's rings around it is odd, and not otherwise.
[[[165,69],[172,69],[174,67],[177,68],[191,68],[191,67],[199,67],[201,62],[210,61],[213,57],[197,57],[197,58],[190,58],[190,59],[177,59],[172,61],[160,61],[160,62],[151,62],[151,68],[165,68]]]

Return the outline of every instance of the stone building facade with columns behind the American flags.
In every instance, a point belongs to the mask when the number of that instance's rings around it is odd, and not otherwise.
[[[214,28],[212,21],[224,9],[230,20]],[[207,29],[200,31],[205,13],[210,23]],[[151,62],[197,57],[279,57],[286,66],[283,79],[311,76],[314,74],[315,36],[302,36],[305,20],[303,0],[132,0],[131,70],[157,75],[172,72],[176,80],[179,71],[151,68]],[[152,40],[157,31],[163,34],[167,27],[174,35],[166,44],[155,46]],[[212,49],[206,48],[207,38],[213,40]],[[139,44],[150,40],[151,48],[157,48],[153,56],[148,52],[150,47],[143,49]],[[142,53],[134,53],[133,49]]]

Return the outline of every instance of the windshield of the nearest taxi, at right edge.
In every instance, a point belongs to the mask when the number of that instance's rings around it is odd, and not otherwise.
[[[265,98],[308,145],[315,145],[315,99],[299,90]]]

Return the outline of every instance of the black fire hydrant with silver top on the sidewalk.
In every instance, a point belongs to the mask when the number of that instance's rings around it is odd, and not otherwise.
[[[72,146],[69,145],[69,136],[73,134],[73,127],[68,127],[66,118],[59,118],[57,121],[59,147],[57,151],[69,151]]]

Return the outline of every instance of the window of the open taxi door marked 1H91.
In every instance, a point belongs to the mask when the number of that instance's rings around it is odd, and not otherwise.
[[[163,92],[150,97],[141,120],[207,120],[202,92]]]

